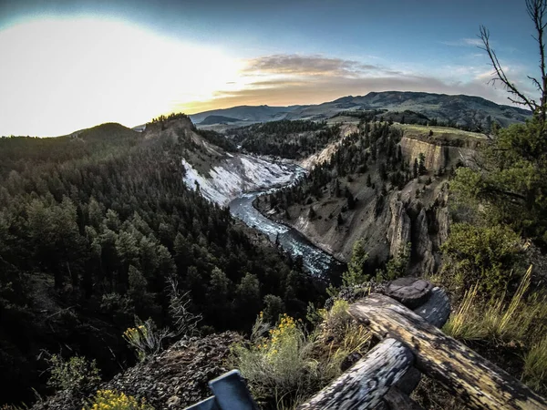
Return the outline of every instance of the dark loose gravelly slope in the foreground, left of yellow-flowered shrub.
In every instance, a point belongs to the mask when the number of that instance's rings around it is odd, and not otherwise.
[[[165,352],[101,384],[98,390],[115,389],[144,397],[156,410],[185,408],[211,395],[208,382],[231,370],[226,367],[230,345],[241,340],[233,332],[184,338]],[[81,410],[88,396],[61,392],[32,408]]]

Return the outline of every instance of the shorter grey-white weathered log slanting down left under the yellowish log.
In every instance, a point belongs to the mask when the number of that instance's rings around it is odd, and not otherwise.
[[[371,409],[382,404],[387,390],[407,373],[413,357],[408,347],[393,339],[378,343],[345,374],[326,386],[304,409]]]

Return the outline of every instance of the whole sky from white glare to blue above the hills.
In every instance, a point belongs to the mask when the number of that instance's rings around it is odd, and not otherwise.
[[[535,97],[524,0],[0,0],[0,135],[370,91],[510,104],[489,84],[480,25]]]

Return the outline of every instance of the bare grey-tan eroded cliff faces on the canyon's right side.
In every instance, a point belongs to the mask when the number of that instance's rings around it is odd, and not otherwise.
[[[445,185],[448,172],[439,171],[455,166],[459,160],[468,163],[476,152],[475,147],[482,142],[478,137],[461,138],[452,139],[451,134],[449,137],[403,137],[400,146],[404,159],[412,162],[423,153],[427,175],[411,179],[402,190],[397,190],[389,181],[380,178],[379,162],[373,163],[368,170],[373,186],[366,184],[365,174],[344,180],[356,200],[352,210],[347,209],[345,198],[335,197],[328,190],[324,190],[324,196],[312,204],[292,206],[289,220],[284,213],[264,209],[267,207],[264,203],[262,210],[293,226],[316,246],[341,261],[349,261],[354,243],[363,239],[371,274],[388,258],[397,257],[408,242],[412,243],[408,273],[437,272],[440,246],[449,236],[448,190]],[[389,188],[387,194],[380,193],[382,186]],[[310,207],[314,208],[314,219],[309,217]],[[342,215],[342,224],[336,223],[338,214]]]

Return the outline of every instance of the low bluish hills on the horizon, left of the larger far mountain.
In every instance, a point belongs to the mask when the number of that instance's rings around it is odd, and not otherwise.
[[[277,119],[284,119],[286,115],[294,109],[307,107],[307,106],[293,106],[293,107],[270,107],[270,106],[239,106],[224,109],[213,109],[211,111],[204,111],[199,114],[193,114],[190,116],[194,124],[201,123],[205,118],[210,116],[220,116],[228,118],[237,118],[241,121],[248,122],[264,122],[274,121]]]

